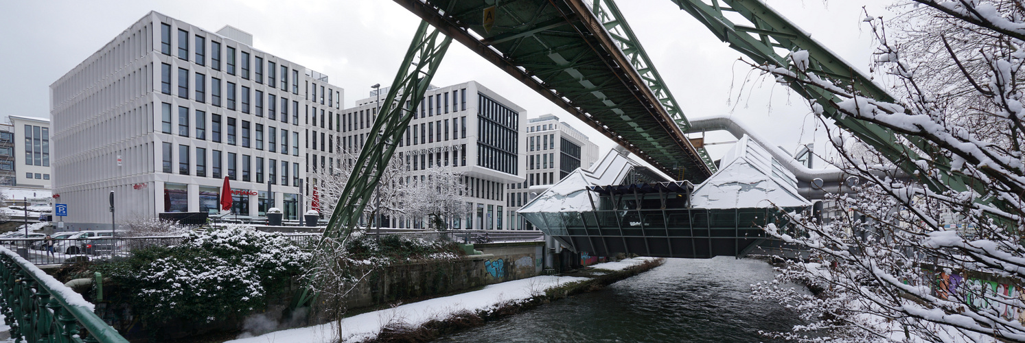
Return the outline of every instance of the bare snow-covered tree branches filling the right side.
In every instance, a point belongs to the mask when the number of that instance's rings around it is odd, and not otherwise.
[[[777,239],[809,247],[815,261],[788,262],[777,280],[754,287],[755,297],[791,305],[811,323],[774,336],[1025,342],[1022,5],[916,2],[925,6],[903,15],[916,18],[904,23],[924,23],[916,27],[920,32],[888,37],[893,29],[887,22],[867,13],[865,18],[877,42],[874,70],[893,80],[897,101],[866,97],[815,75],[807,68],[807,51],[793,51],[787,68],[752,65],[788,85],[832,93],[832,101],[810,103],[823,122],[823,110],[830,109],[927,143],[916,148],[919,159],[909,161],[919,167],[917,174],[907,175],[894,164],[875,164],[887,161],[879,153],[855,148],[862,143],[857,137],[829,130],[843,160],[837,165],[861,184],[855,192],[830,196],[847,214],[837,220],[791,213],[787,225],[767,227]],[[928,39],[901,41],[914,37]],[[942,172],[975,181],[965,190],[950,190],[963,187],[947,179],[932,188],[913,181]],[[816,294],[791,283],[809,285]]]

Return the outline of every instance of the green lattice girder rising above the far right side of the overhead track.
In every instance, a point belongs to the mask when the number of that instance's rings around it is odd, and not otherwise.
[[[593,0],[590,9],[602,22],[605,30],[615,40],[616,46],[629,58],[633,69],[641,75],[641,79],[644,80],[645,85],[658,98],[659,103],[662,104],[665,112],[672,117],[682,130],[687,131],[691,127],[691,124],[687,121],[687,116],[684,115],[680,104],[676,103],[676,98],[672,96],[672,92],[665,86],[662,76],[658,74],[655,65],[651,62],[648,52],[644,50],[641,41],[638,40],[633,34],[633,30],[626,23],[623,14],[619,11],[619,7],[616,6],[616,2],[614,0]],[[715,164],[708,156],[708,152],[703,146],[697,147],[697,151],[701,161],[704,162],[709,170],[714,172],[716,169]]]

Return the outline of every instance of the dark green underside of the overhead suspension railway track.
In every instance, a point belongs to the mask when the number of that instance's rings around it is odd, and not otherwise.
[[[711,175],[707,154],[684,135],[686,119],[661,95],[664,87],[649,86],[648,68],[641,74],[631,61],[641,57],[617,46],[622,37],[584,0],[395,1],[655,168],[692,182]],[[485,30],[491,6],[495,20]]]

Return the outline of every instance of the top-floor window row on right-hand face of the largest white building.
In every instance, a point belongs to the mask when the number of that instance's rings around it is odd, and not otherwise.
[[[177,30],[177,51],[176,55],[178,58],[183,60],[190,60],[189,55],[189,42],[190,33],[188,30],[178,29]],[[195,54],[192,55],[192,61],[199,66],[207,66],[207,53],[206,53],[206,38],[200,35],[192,35],[194,46],[193,49]],[[166,23],[161,23],[161,33],[160,33],[160,51],[166,55],[171,55],[171,26]],[[236,54],[238,52],[238,54]],[[225,46],[224,53],[221,54],[220,42],[210,40],[210,60],[209,67],[212,70],[220,71],[221,60],[225,62],[224,72],[229,75],[237,75],[245,80],[253,80],[258,84],[263,83],[263,57],[251,56],[248,51],[237,51],[236,47]],[[288,66],[277,66],[274,61],[266,61],[266,85],[275,88],[279,87],[278,80],[280,80],[281,90],[288,91]],[[279,71],[280,74],[276,74]],[[250,75],[250,72],[252,74]],[[292,69],[292,94],[299,93],[299,71]],[[251,78],[250,78],[251,76]],[[278,78],[280,76],[280,78]],[[311,100],[311,88],[310,81],[305,82],[305,98]],[[320,104],[325,104],[325,94],[327,105],[332,108],[341,108],[341,92],[338,90],[328,89],[323,84],[320,86]],[[337,101],[335,100],[337,99]],[[317,98],[317,83],[313,84],[313,101],[318,101]]]

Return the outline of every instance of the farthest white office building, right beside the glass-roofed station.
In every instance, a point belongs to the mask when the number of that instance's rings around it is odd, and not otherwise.
[[[598,145],[569,124],[560,122],[559,117],[544,115],[530,119],[523,132],[525,180],[506,184],[506,218],[511,229],[531,226],[516,213],[520,207],[577,168],[588,169],[598,161]]]

